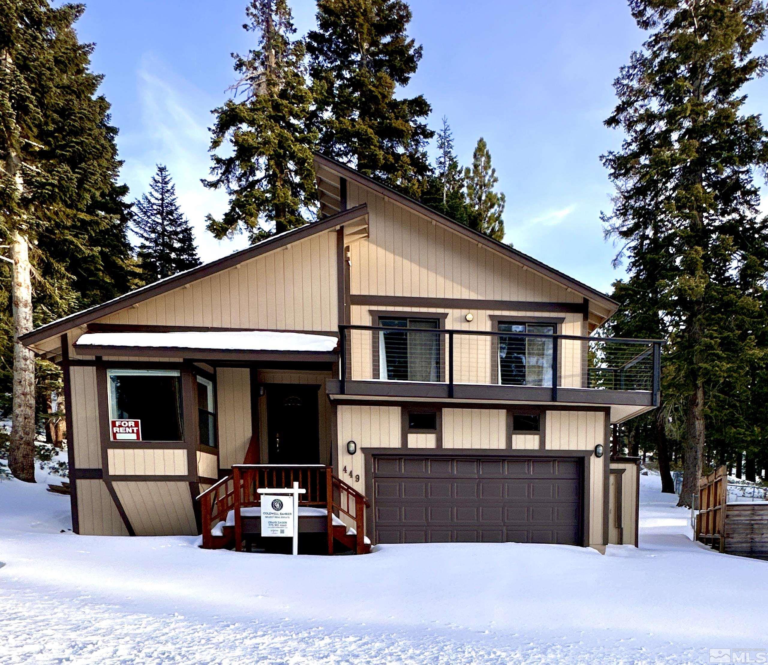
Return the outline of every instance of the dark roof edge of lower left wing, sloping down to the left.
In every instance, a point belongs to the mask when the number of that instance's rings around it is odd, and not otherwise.
[[[243,263],[243,261],[253,259],[263,253],[271,252],[282,246],[295,243],[298,240],[303,240],[304,238],[313,236],[315,233],[331,230],[334,227],[352,222],[367,214],[368,207],[366,207],[365,203],[362,203],[362,205],[349,208],[349,210],[343,210],[330,217],[323,217],[322,220],[317,222],[305,224],[303,227],[291,229],[285,233],[279,233],[276,236],[262,240],[260,243],[251,245],[244,250],[232,253],[229,256],[223,256],[215,261],[204,263],[202,266],[197,266],[196,268],[185,270],[183,273],[177,273],[176,275],[166,277],[164,280],[157,280],[157,282],[142,286],[141,289],[135,289],[123,296],[118,296],[117,298],[108,300],[106,303],[101,303],[101,305],[83,309],[81,312],[48,323],[45,326],[41,326],[38,329],[20,336],[19,341],[22,342],[22,344],[29,346],[36,342],[41,342],[43,339],[66,333],[72,328],[81,326],[84,323],[90,323],[94,319],[100,319],[102,316],[117,312],[134,303],[140,303],[148,298],[159,296],[161,293],[178,289],[180,286],[184,286],[185,284],[189,284],[196,280],[201,280],[204,277],[218,273],[222,270],[227,270],[228,268],[237,266],[238,263]]]

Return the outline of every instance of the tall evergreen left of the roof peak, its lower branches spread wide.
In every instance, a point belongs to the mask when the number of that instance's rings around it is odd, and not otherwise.
[[[303,41],[286,0],[251,0],[247,31],[257,34],[257,48],[233,55],[240,80],[234,97],[214,109],[210,151],[214,166],[206,187],[223,187],[230,207],[221,220],[208,216],[217,238],[245,231],[256,242],[305,223],[316,203],[313,163],[316,135],[306,130],[312,94],[306,86]],[[225,142],[231,154],[216,154]]]

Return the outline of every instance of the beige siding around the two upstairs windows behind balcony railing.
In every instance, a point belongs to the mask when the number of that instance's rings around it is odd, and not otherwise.
[[[355,326],[372,326],[376,321],[372,319],[371,311],[386,312],[398,311],[419,314],[443,314],[445,328],[453,330],[490,331],[492,329],[491,316],[504,316],[510,321],[525,322],[535,317],[564,319],[558,326],[558,333],[563,335],[581,336],[585,333],[584,317],[574,313],[551,312],[520,312],[487,309],[448,309],[442,307],[409,307],[409,306],[360,306],[353,305],[349,310],[350,319]],[[472,321],[466,320],[466,315],[472,314]],[[380,344],[381,333],[370,330],[349,330],[347,342],[349,343],[349,364],[352,370],[352,379],[369,380],[378,379],[379,368],[373,367],[373,346]],[[445,336],[441,336],[441,346],[447,349]],[[492,336],[461,335],[455,334],[453,339],[454,356],[454,381],[456,383],[491,383],[494,373],[494,365],[498,367],[498,346]],[[443,354],[447,363],[447,351]],[[380,357],[380,354],[379,354]],[[586,353],[584,342],[573,339],[561,339],[558,348],[559,380],[558,385],[568,388],[579,388],[584,384]],[[447,366],[442,367],[441,380],[448,376]]]

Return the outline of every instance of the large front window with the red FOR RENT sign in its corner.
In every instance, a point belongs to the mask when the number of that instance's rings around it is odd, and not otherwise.
[[[182,441],[181,377],[175,369],[108,369],[109,417],[141,422],[142,441]]]

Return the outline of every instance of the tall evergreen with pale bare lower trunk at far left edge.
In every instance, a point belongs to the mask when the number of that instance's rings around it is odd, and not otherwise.
[[[111,217],[101,209],[117,187],[120,162],[101,77],[89,70],[92,45],[72,25],[82,5],[0,0],[0,240],[12,260],[14,338],[35,320],[69,313],[78,296],[67,266],[46,253],[47,239],[72,243],[84,260]],[[39,243],[39,244],[38,244]],[[13,422],[8,465],[35,480],[35,359],[14,344]]]

